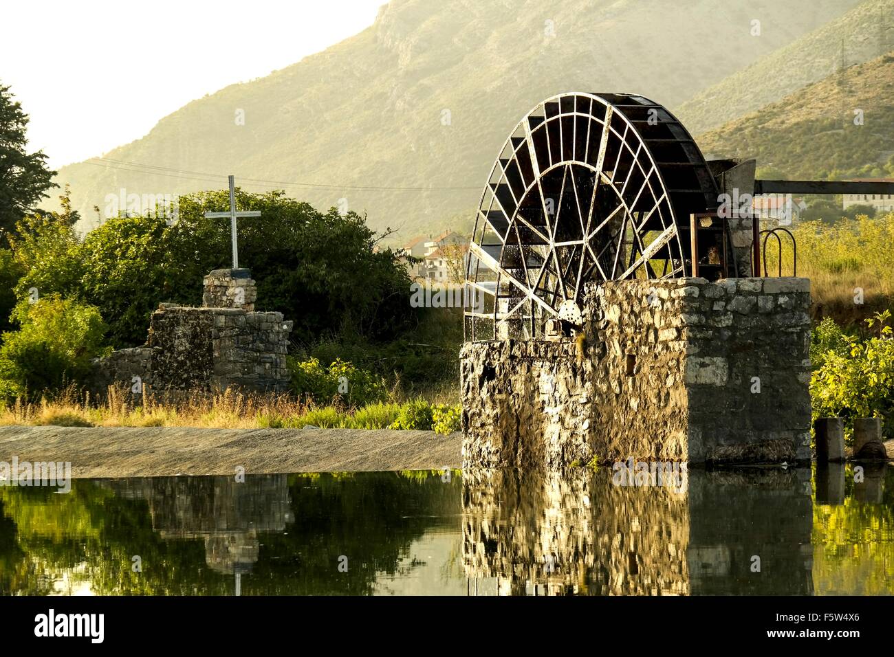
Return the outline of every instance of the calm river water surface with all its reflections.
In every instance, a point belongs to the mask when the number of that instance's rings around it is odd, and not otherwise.
[[[0,487],[0,593],[891,594],[892,502],[892,468],[840,465]]]

